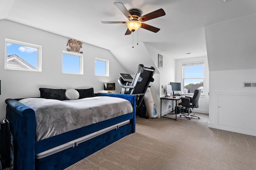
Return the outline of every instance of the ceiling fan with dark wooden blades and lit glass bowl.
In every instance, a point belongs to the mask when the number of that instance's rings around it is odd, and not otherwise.
[[[154,33],[157,33],[160,30],[160,28],[147,25],[143,22],[165,16],[165,12],[162,8],[154,12],[150,12],[149,14],[146,14],[144,16],[141,16],[141,11],[139,9],[131,9],[128,11],[123,3],[114,2],[114,4],[126,16],[126,18],[128,18],[129,21],[101,21],[102,23],[125,23],[128,27],[125,35],[130,35],[132,32],[136,31],[139,28],[144,28]]]

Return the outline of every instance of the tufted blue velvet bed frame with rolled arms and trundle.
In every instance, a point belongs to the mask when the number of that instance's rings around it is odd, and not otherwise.
[[[134,112],[108,119],[99,123],[81,127],[48,139],[36,139],[35,111],[14,99],[6,100],[6,119],[10,122],[10,131],[14,137],[14,169],[16,170],[61,170],[89,156],[90,154],[135,132],[136,96],[128,94],[98,93],[97,96],[124,98],[131,102]],[[35,155],[57,147],[74,139],[99,131],[111,125],[130,119],[130,123],[100,136],[94,137],[77,147],[36,159]]]

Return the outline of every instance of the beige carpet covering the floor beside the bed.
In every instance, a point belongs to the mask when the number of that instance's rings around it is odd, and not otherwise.
[[[66,170],[256,170],[256,137],[201,119],[136,119],[136,133]],[[173,116],[173,115],[171,115]]]

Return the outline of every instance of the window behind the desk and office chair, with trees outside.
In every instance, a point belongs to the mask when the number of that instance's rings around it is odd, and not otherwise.
[[[183,93],[204,92],[204,62],[183,63]]]

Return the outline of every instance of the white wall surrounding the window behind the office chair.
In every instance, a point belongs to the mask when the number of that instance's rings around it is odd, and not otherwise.
[[[194,57],[189,59],[176,60],[176,82],[182,83],[182,63],[204,61],[204,94],[200,96],[198,102],[198,108],[193,111],[198,113],[209,113],[209,67],[207,57]],[[186,94],[186,96],[189,96]],[[192,95],[191,95],[192,96]]]

